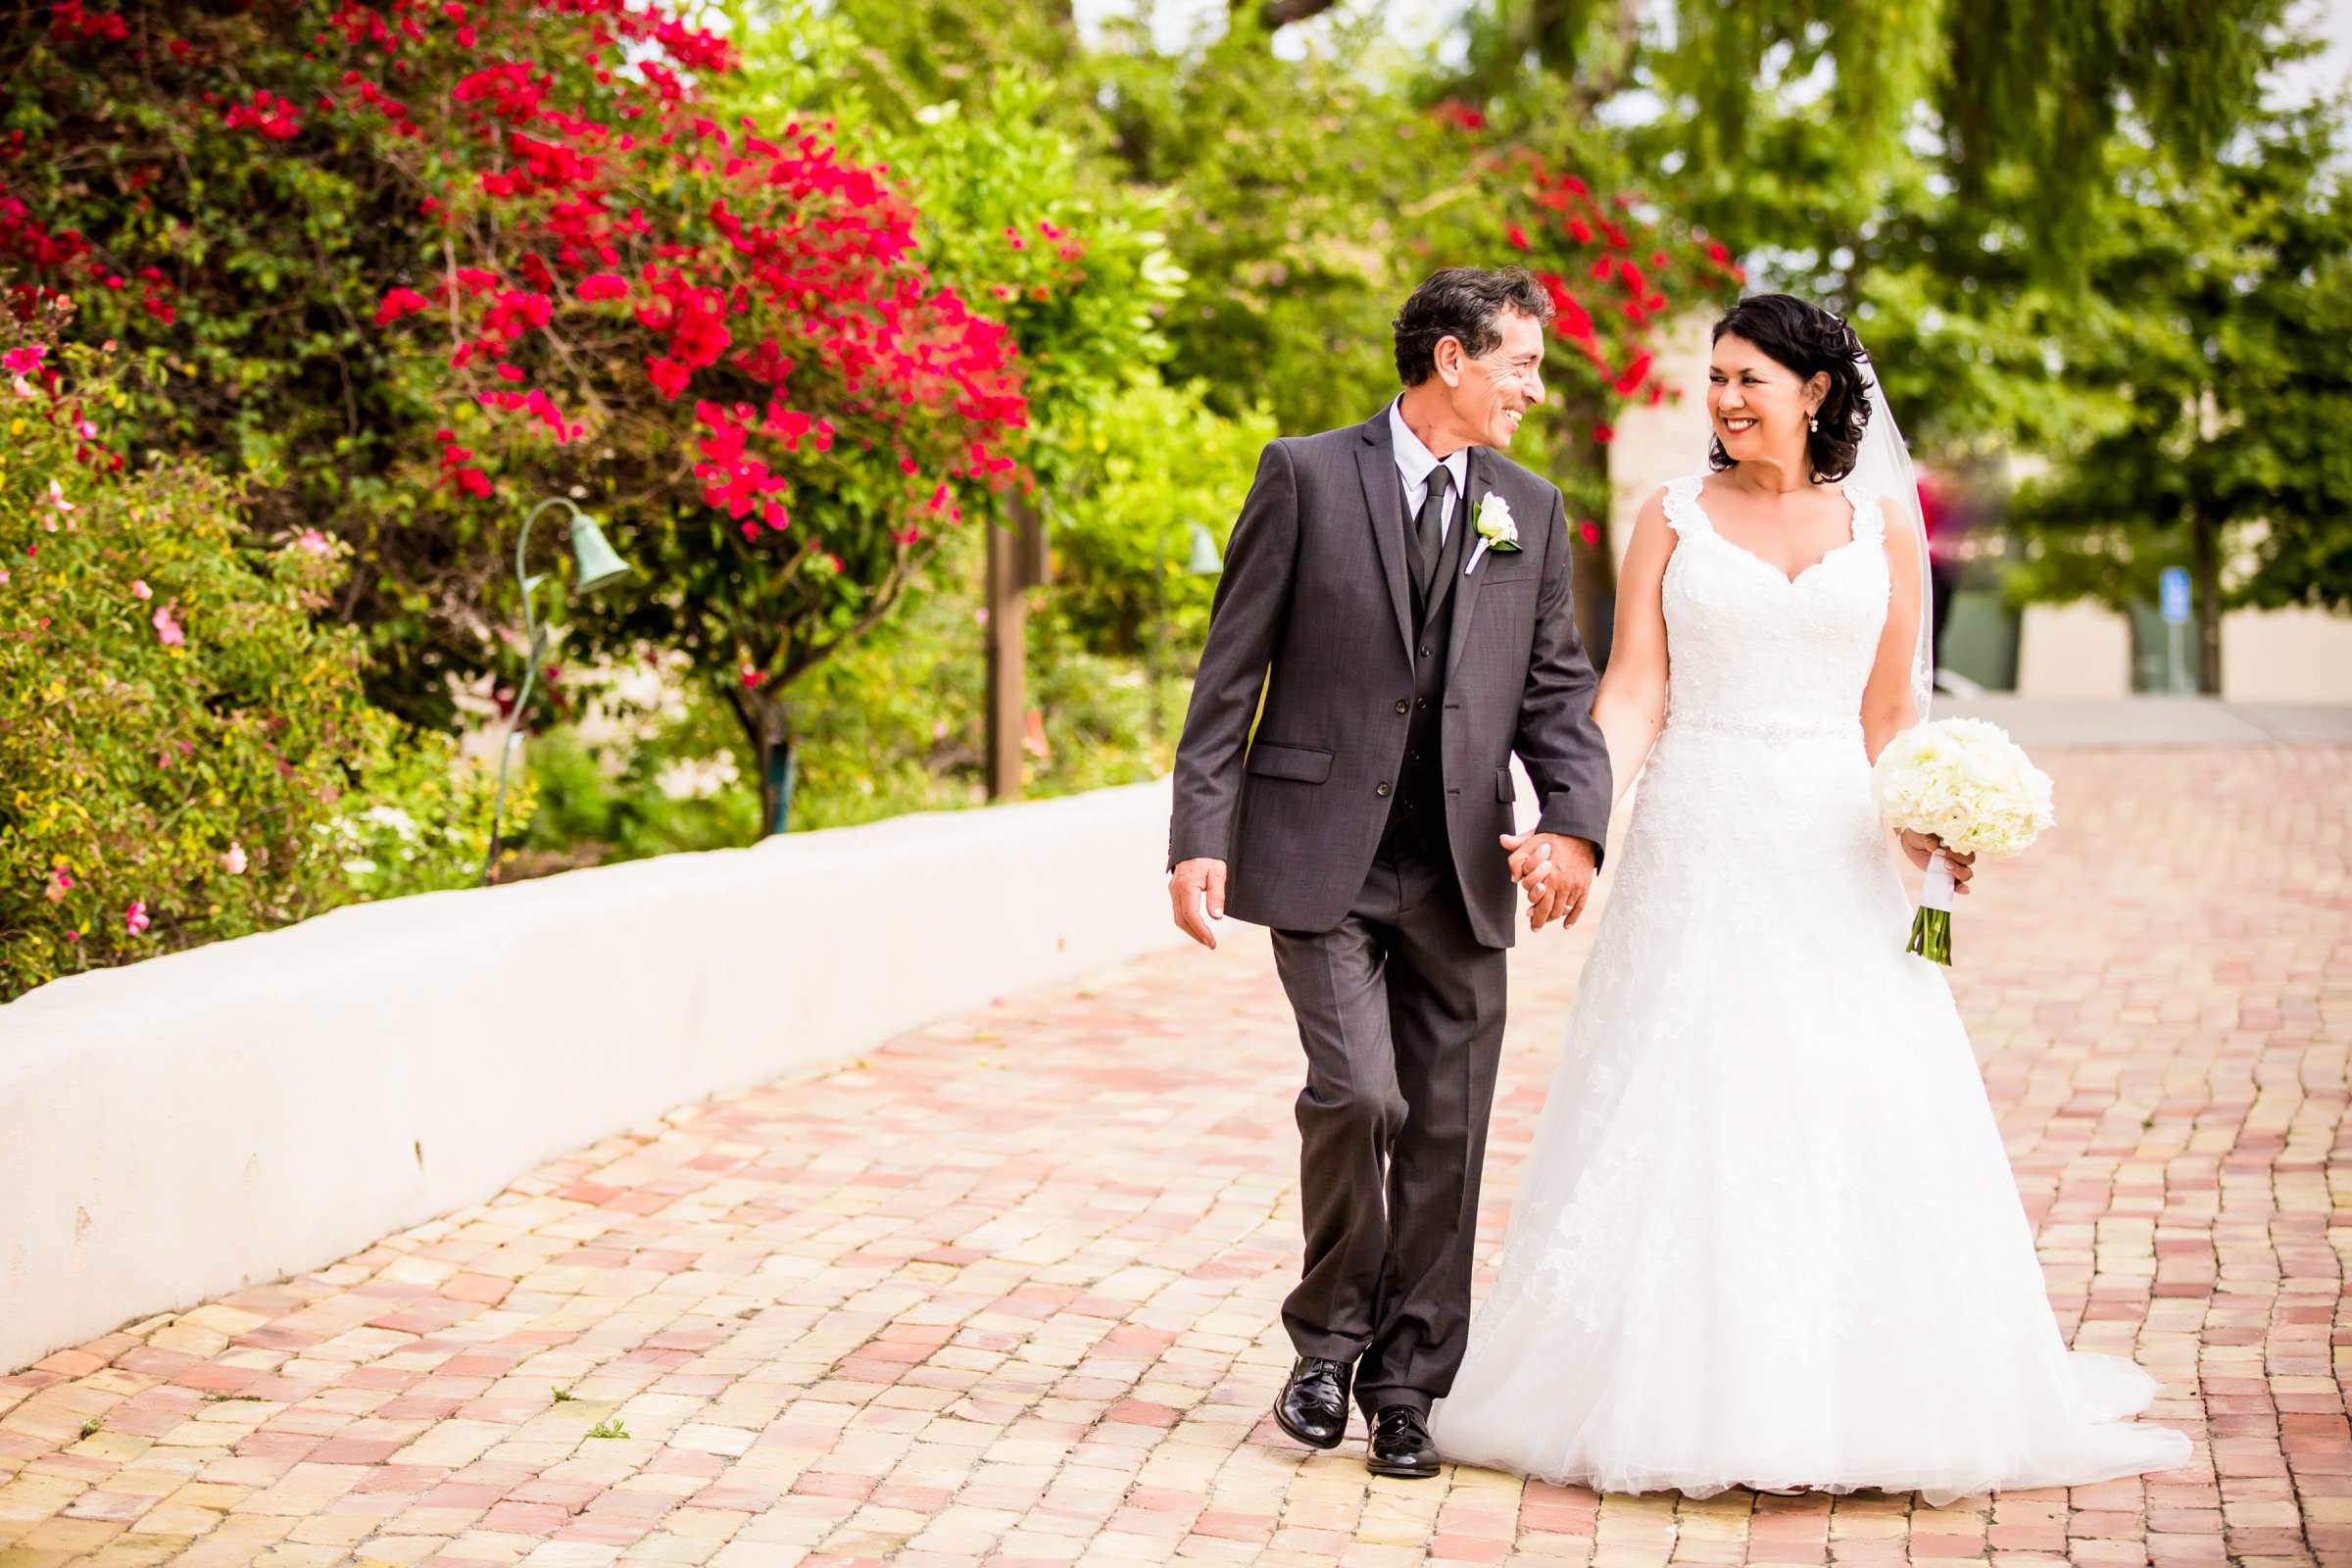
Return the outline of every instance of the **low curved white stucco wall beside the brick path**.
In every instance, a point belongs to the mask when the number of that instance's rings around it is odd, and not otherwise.
[[[336,910],[0,1009],[0,1371],[1181,943],[1169,790]]]

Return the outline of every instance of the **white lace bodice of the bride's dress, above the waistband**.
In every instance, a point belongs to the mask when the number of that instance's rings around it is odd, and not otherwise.
[[[1863,686],[1886,625],[1886,522],[1846,484],[1851,538],[1795,581],[1743,550],[1700,510],[1705,475],[1665,487],[1675,555],[1665,567],[1668,722],[1743,733],[1828,733],[1860,724]]]

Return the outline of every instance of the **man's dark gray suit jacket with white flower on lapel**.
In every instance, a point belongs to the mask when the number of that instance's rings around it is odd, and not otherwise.
[[[1510,947],[1515,889],[1496,844],[1512,830],[1510,755],[1536,783],[1538,825],[1599,851],[1609,750],[1592,724],[1592,663],[1571,614],[1559,489],[1498,451],[1472,449],[1454,527],[1470,527],[1489,491],[1510,503],[1522,548],[1489,550],[1454,583],[1442,752],[1446,837],[1470,929],[1489,947]],[[1409,592],[1388,409],[1362,425],[1272,442],[1232,524],[1176,748],[1169,863],[1225,860],[1232,917],[1329,931],[1364,886],[1404,762]]]

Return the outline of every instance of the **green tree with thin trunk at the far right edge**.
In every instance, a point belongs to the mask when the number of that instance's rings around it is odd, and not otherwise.
[[[2234,604],[2352,609],[2352,202],[2340,106],[2211,165],[2119,136],[2082,301],[2044,322],[2086,414],[2023,494],[2032,597],[2147,602],[2192,574],[2199,677]]]

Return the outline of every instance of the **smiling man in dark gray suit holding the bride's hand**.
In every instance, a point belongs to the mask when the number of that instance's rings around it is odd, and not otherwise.
[[[1272,929],[1308,1058],[1275,1420],[1334,1448],[1352,1382],[1383,1476],[1437,1474],[1470,1328],[1512,882],[1531,929],[1573,922],[1609,825],[1559,491],[1498,451],[1550,317],[1519,268],[1435,273],[1397,313],[1404,395],[1265,449],[1176,750],[1176,924]],[[1543,804],[1524,839],[1512,752]]]

